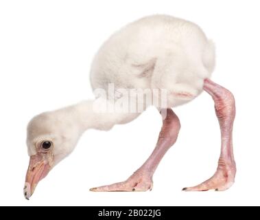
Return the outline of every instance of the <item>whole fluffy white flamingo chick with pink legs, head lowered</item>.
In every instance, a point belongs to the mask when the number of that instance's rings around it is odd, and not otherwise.
[[[30,159],[25,198],[29,199],[38,181],[73,151],[84,131],[109,130],[115,124],[134,120],[147,106],[154,105],[162,115],[163,126],[152,155],[126,181],[91,188],[95,192],[151,190],[154,171],[176,142],[180,130],[180,121],[172,108],[193,100],[202,91],[215,102],[222,135],[221,154],[213,177],[183,190],[226,190],[231,187],[236,173],[232,143],[235,100],[231,91],[209,79],[214,64],[213,43],[198,25],[189,21],[155,15],[115,32],[99,49],[91,68],[93,90],[102,89],[109,94],[109,85],[113,85],[115,96],[100,98],[99,93],[93,100],[42,113],[29,122],[27,148]],[[161,107],[158,103],[138,100],[137,104],[146,104],[142,111],[97,111],[104,103],[106,107],[113,107],[115,101],[124,100],[128,94],[122,89],[150,89],[158,97],[166,91],[166,104]],[[120,104],[118,108],[121,108]]]

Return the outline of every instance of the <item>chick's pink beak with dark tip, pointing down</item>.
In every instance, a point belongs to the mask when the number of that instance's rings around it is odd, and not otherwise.
[[[25,187],[23,188],[25,199],[32,196],[38,182],[47,176],[50,169],[49,157],[46,153],[37,153],[29,158]]]

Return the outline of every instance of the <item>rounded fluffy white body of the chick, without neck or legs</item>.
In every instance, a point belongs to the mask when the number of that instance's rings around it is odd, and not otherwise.
[[[156,15],[126,25],[102,45],[91,68],[91,85],[167,89],[168,107],[176,107],[200,94],[214,64],[214,45],[198,25]]]

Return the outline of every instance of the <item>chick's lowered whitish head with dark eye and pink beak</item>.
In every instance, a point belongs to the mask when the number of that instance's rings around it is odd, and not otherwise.
[[[38,182],[46,177],[78,142],[80,132],[71,114],[52,111],[34,117],[27,126],[29,167],[25,179],[24,195],[32,196]]]

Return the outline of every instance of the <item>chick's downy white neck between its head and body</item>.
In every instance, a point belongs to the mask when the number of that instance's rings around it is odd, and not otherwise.
[[[60,109],[69,114],[71,123],[76,124],[80,132],[87,129],[109,130],[115,124],[123,124],[137,118],[137,113],[115,112],[108,102],[86,100],[71,107]]]

